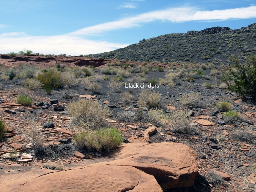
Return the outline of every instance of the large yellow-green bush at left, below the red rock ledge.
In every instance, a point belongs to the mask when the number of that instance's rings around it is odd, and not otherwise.
[[[56,69],[43,70],[37,75],[37,80],[44,84],[44,88],[61,88],[63,86],[61,72]]]

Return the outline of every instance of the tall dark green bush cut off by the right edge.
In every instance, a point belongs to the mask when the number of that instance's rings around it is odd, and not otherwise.
[[[224,76],[229,89],[236,92],[241,97],[251,96],[252,101],[256,101],[256,57],[249,55],[246,63],[235,57],[231,57],[234,65],[227,67],[232,74],[231,82]],[[233,67],[235,67],[234,70]]]

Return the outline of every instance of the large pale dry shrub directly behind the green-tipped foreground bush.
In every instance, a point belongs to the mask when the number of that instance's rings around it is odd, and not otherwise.
[[[72,122],[80,127],[97,128],[104,124],[104,119],[110,115],[110,111],[98,101],[80,99],[68,106],[68,112],[72,116]]]

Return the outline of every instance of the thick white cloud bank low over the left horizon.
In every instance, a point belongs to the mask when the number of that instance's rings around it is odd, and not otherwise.
[[[24,33],[5,33],[0,35],[0,53],[18,52],[24,48],[35,53],[79,55],[102,53],[123,48],[128,44],[92,41],[68,35],[28,36]]]

